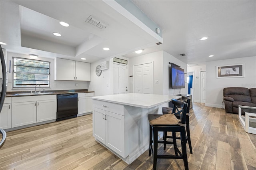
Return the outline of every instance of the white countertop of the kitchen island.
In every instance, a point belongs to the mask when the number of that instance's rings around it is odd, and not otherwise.
[[[154,95],[154,94],[141,94],[141,93],[126,93],[120,95],[106,95],[91,97],[95,100],[108,101],[122,105],[151,108],[163,103],[167,103],[172,99],[180,99],[181,96],[176,95]]]

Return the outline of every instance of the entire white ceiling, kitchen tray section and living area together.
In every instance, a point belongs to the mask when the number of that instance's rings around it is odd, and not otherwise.
[[[1,0],[0,41],[8,43],[2,47],[12,52],[77,61],[85,57],[90,63],[119,55],[135,57],[134,51],[142,48],[140,55],[164,50],[189,65],[256,56],[256,1],[132,2],[162,29],[163,44],[155,45],[159,36],[120,12],[115,1],[95,0]],[[85,23],[90,15],[107,28]],[[63,27],[60,21],[70,26]],[[62,36],[55,37],[52,32]],[[203,36],[208,40],[199,41]]]

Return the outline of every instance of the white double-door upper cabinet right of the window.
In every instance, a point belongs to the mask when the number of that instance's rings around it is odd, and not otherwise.
[[[91,81],[91,64],[56,58],[54,80]]]

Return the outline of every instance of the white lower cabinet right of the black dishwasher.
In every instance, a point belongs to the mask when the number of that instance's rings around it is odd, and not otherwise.
[[[92,112],[92,99],[94,93],[78,93],[78,115]]]

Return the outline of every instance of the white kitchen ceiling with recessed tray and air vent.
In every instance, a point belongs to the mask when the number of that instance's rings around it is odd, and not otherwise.
[[[162,41],[115,1],[1,0],[0,8],[0,41],[10,52],[76,61],[84,57],[91,63]],[[106,24],[106,29],[88,24],[89,16]],[[60,21],[70,26],[63,27]]]

